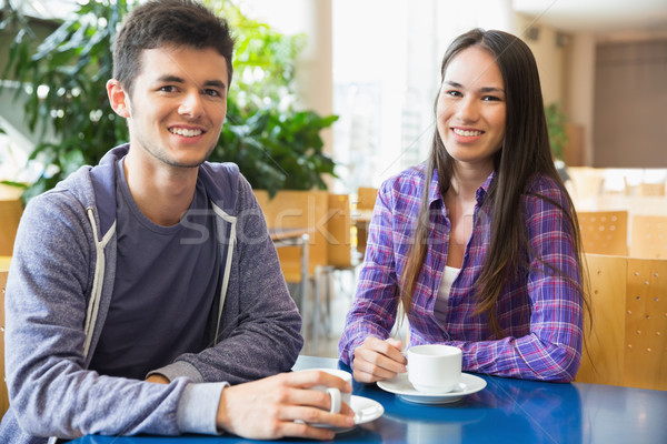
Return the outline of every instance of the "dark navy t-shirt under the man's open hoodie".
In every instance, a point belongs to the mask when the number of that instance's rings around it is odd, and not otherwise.
[[[180,354],[210,345],[207,322],[220,292],[216,221],[200,181],[190,209],[173,226],[157,225],[141,213],[122,160],[116,183],[116,282],[90,367],[143,380]]]

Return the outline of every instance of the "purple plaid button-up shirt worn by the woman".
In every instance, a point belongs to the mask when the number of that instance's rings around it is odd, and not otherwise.
[[[567,208],[564,192],[552,180],[535,179],[522,195],[524,222],[531,246],[524,254],[530,268],[506,284],[496,304],[506,337],[495,339],[487,316],[474,314],[472,286],[480,275],[491,235],[490,214],[480,206],[494,178],[491,173],[477,190],[472,234],[461,271],[451,285],[445,322],[438,321],[434,305],[447,262],[450,222],[437,186],[437,174],[430,183],[429,249],[408,315],[410,345],[456,345],[464,352],[464,371],[571,381],[579,367],[583,343],[579,265],[563,211],[535,195],[541,194]],[[340,359],[348,365],[355,349],[367,336],[387,339],[395,324],[398,282],[402,281],[412,242],[424,182],[424,167],[419,167],[380,188],[357,295],[339,343]],[[551,270],[559,270],[561,275]]]

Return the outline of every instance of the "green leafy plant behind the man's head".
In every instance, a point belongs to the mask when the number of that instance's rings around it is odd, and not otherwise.
[[[39,159],[44,170],[24,199],[82,164],[96,164],[112,144],[128,140],[125,120],[108,104],[104,83],[112,70],[111,42],[132,4],[81,2],[76,17],[41,42],[30,38],[30,22],[16,10],[0,24],[0,31],[16,33],[3,78],[16,79],[18,92],[29,87],[28,125],[41,135],[31,159]],[[229,1],[209,4],[238,32],[227,123],[211,160],[238,163],[252,186],[271,196],[281,189],[326,189],[323,176],[335,174],[335,162],[323,153],[319,133],[337,117],[293,105],[293,59],[303,37],[283,36],[247,19]],[[47,129],[53,137],[47,137]]]

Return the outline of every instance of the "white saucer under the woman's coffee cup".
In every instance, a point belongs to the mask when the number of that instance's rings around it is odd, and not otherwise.
[[[461,373],[458,385],[449,393],[424,393],[418,392],[407,373],[399,373],[395,379],[378,381],[378,387],[398,395],[404,401],[418,404],[445,404],[459,401],[461,397],[479,392],[486,387],[486,381],[479,376]]]

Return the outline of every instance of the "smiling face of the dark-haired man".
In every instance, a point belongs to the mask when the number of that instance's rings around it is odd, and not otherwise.
[[[153,164],[200,165],[218,143],[228,89],[225,57],[212,48],[143,50],[131,97],[125,93],[131,149]]]

